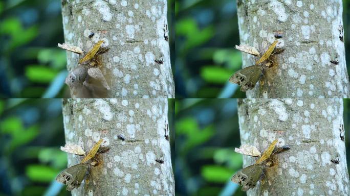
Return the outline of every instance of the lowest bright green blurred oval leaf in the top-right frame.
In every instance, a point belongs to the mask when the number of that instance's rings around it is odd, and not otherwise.
[[[228,69],[217,66],[203,66],[201,77],[209,83],[224,84],[231,77],[232,72]]]

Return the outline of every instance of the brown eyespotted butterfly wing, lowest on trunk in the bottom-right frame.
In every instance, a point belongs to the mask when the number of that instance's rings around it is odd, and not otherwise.
[[[242,190],[247,191],[250,188],[254,188],[256,182],[260,179],[264,166],[262,164],[250,165],[239,170],[232,178],[231,181],[239,185],[242,185]]]

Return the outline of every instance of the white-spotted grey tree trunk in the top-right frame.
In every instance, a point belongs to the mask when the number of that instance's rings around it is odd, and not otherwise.
[[[261,53],[281,31],[285,49],[247,97],[348,97],[342,11],[342,1],[238,0],[240,43]],[[256,60],[243,54],[243,67]]]

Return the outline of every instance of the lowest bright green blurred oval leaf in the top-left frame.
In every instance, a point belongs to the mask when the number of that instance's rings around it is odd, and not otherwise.
[[[26,67],[26,76],[32,82],[49,83],[57,75],[57,71],[41,65],[28,65]]]

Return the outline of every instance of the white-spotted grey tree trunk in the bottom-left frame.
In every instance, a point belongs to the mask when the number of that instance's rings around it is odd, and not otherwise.
[[[173,195],[167,114],[166,99],[63,100],[66,143],[86,151],[102,138],[110,148],[72,194]],[[81,159],[69,154],[68,164]]]

